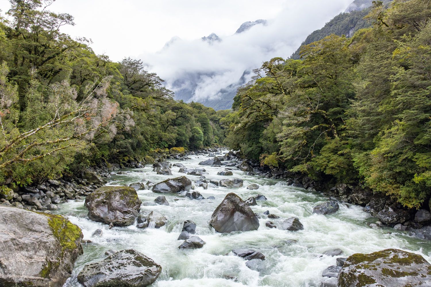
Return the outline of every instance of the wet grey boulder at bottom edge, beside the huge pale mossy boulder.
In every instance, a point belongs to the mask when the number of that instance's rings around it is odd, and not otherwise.
[[[85,287],[144,287],[156,281],[160,272],[162,266],[153,259],[128,249],[85,265],[78,282]]]

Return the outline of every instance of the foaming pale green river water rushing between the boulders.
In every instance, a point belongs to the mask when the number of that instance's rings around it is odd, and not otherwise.
[[[199,167],[198,163],[207,159],[205,156],[191,156],[190,160],[181,161],[187,168]],[[172,164],[178,162],[171,160]],[[406,231],[395,231],[385,227],[369,228],[367,222],[378,219],[362,211],[362,207],[340,204],[340,209],[331,215],[313,215],[312,207],[327,201],[328,198],[318,192],[307,191],[285,184],[283,180],[266,179],[259,176],[246,176],[240,170],[233,170],[234,176],[218,176],[217,172],[224,167],[204,167],[209,173],[206,178],[238,178],[244,180],[241,188],[211,188],[204,190],[197,187],[205,198],[212,200],[190,200],[184,194],[163,194],[169,206],[147,206],[161,195],[151,190],[139,190],[137,194],[143,201],[141,213],[152,210],[162,213],[169,223],[162,228],[139,229],[135,225],[114,227],[93,222],[87,218],[87,209],[83,202],[69,201],[59,205],[57,213],[66,214],[69,219],[82,229],[84,239],[92,241],[84,245],[84,254],[75,262],[72,277],[65,287],[81,287],[76,280],[79,271],[89,262],[106,257],[106,250],[123,250],[133,248],[152,258],[162,266],[162,273],[154,287],[182,286],[319,286],[322,271],[329,265],[335,265],[337,257],[347,257],[353,253],[371,253],[386,248],[398,248],[424,256],[431,262],[430,241],[410,237]],[[128,185],[133,182],[154,183],[162,180],[184,176],[178,173],[178,167],[172,167],[172,176],[157,175],[152,167],[143,169],[125,169],[128,175],[113,176],[108,185]],[[194,182],[198,176],[188,176]],[[257,190],[247,190],[247,185],[257,183]],[[251,207],[261,215],[260,227],[256,231],[216,233],[208,225],[209,218],[226,194],[235,192],[243,200],[256,194],[264,194],[267,201],[257,201]],[[280,219],[266,219],[265,210],[280,216]],[[275,224],[292,216],[297,216],[304,230],[284,231],[265,226],[267,220]],[[206,244],[201,249],[180,250],[182,241],[177,240],[184,220],[190,219],[197,224],[196,235]],[[101,237],[91,234],[101,228]],[[245,265],[246,260],[234,256],[231,250],[250,248],[260,250],[265,256],[265,270],[260,273]],[[322,256],[327,250],[340,248],[340,256]]]

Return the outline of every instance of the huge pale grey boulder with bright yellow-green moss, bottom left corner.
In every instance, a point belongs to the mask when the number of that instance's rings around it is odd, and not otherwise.
[[[81,229],[53,214],[5,206],[0,214],[0,286],[63,286],[82,254]]]

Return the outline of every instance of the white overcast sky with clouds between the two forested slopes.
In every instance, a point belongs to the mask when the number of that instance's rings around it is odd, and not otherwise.
[[[75,17],[76,25],[63,32],[93,40],[94,51],[113,61],[142,59],[168,87],[184,74],[205,73],[193,95],[199,100],[217,98],[217,89],[237,81],[244,70],[275,56],[287,58],[352,1],[57,0],[49,9]],[[0,0],[2,15],[8,2]],[[232,36],[242,23],[256,19],[266,19],[268,25]],[[212,32],[221,43],[200,40]],[[163,48],[172,37],[181,40]]]

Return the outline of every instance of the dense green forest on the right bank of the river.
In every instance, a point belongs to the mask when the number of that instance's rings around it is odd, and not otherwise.
[[[431,1],[381,1],[353,37],[275,58],[234,99],[226,143],[262,164],[360,183],[406,207],[431,194]]]

